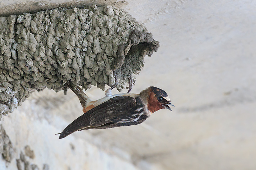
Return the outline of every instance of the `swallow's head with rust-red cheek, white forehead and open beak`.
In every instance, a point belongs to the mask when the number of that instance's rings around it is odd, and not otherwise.
[[[151,113],[154,113],[160,109],[169,109],[171,108],[169,106],[174,106],[171,101],[170,97],[166,94],[166,92],[162,89],[159,89],[157,87],[148,87],[148,89],[145,90],[148,94],[148,109]]]

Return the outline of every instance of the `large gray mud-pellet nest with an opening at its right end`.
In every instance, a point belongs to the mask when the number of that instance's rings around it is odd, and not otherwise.
[[[159,42],[125,11],[112,6],[56,8],[0,17],[0,117],[33,90],[65,84],[121,91]]]

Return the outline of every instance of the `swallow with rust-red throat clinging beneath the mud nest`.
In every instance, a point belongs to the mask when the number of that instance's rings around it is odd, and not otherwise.
[[[112,95],[113,86],[105,91],[105,97],[96,101],[91,100],[79,86],[75,89],[67,86],[78,96],[84,114],[59,133],[59,139],[81,130],[137,125],[152,113],[165,108],[172,111],[169,106],[174,106],[166,92],[154,86],[139,94],[128,92]]]

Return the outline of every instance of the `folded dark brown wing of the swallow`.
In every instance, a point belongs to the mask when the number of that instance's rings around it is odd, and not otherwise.
[[[62,133],[60,133],[59,139],[64,138],[75,131],[89,127],[89,129],[93,129],[92,127],[96,128],[106,123],[115,122],[122,117],[122,115],[127,117],[127,113],[130,113],[129,111],[135,104],[135,98],[130,96],[113,97],[75,119]]]

